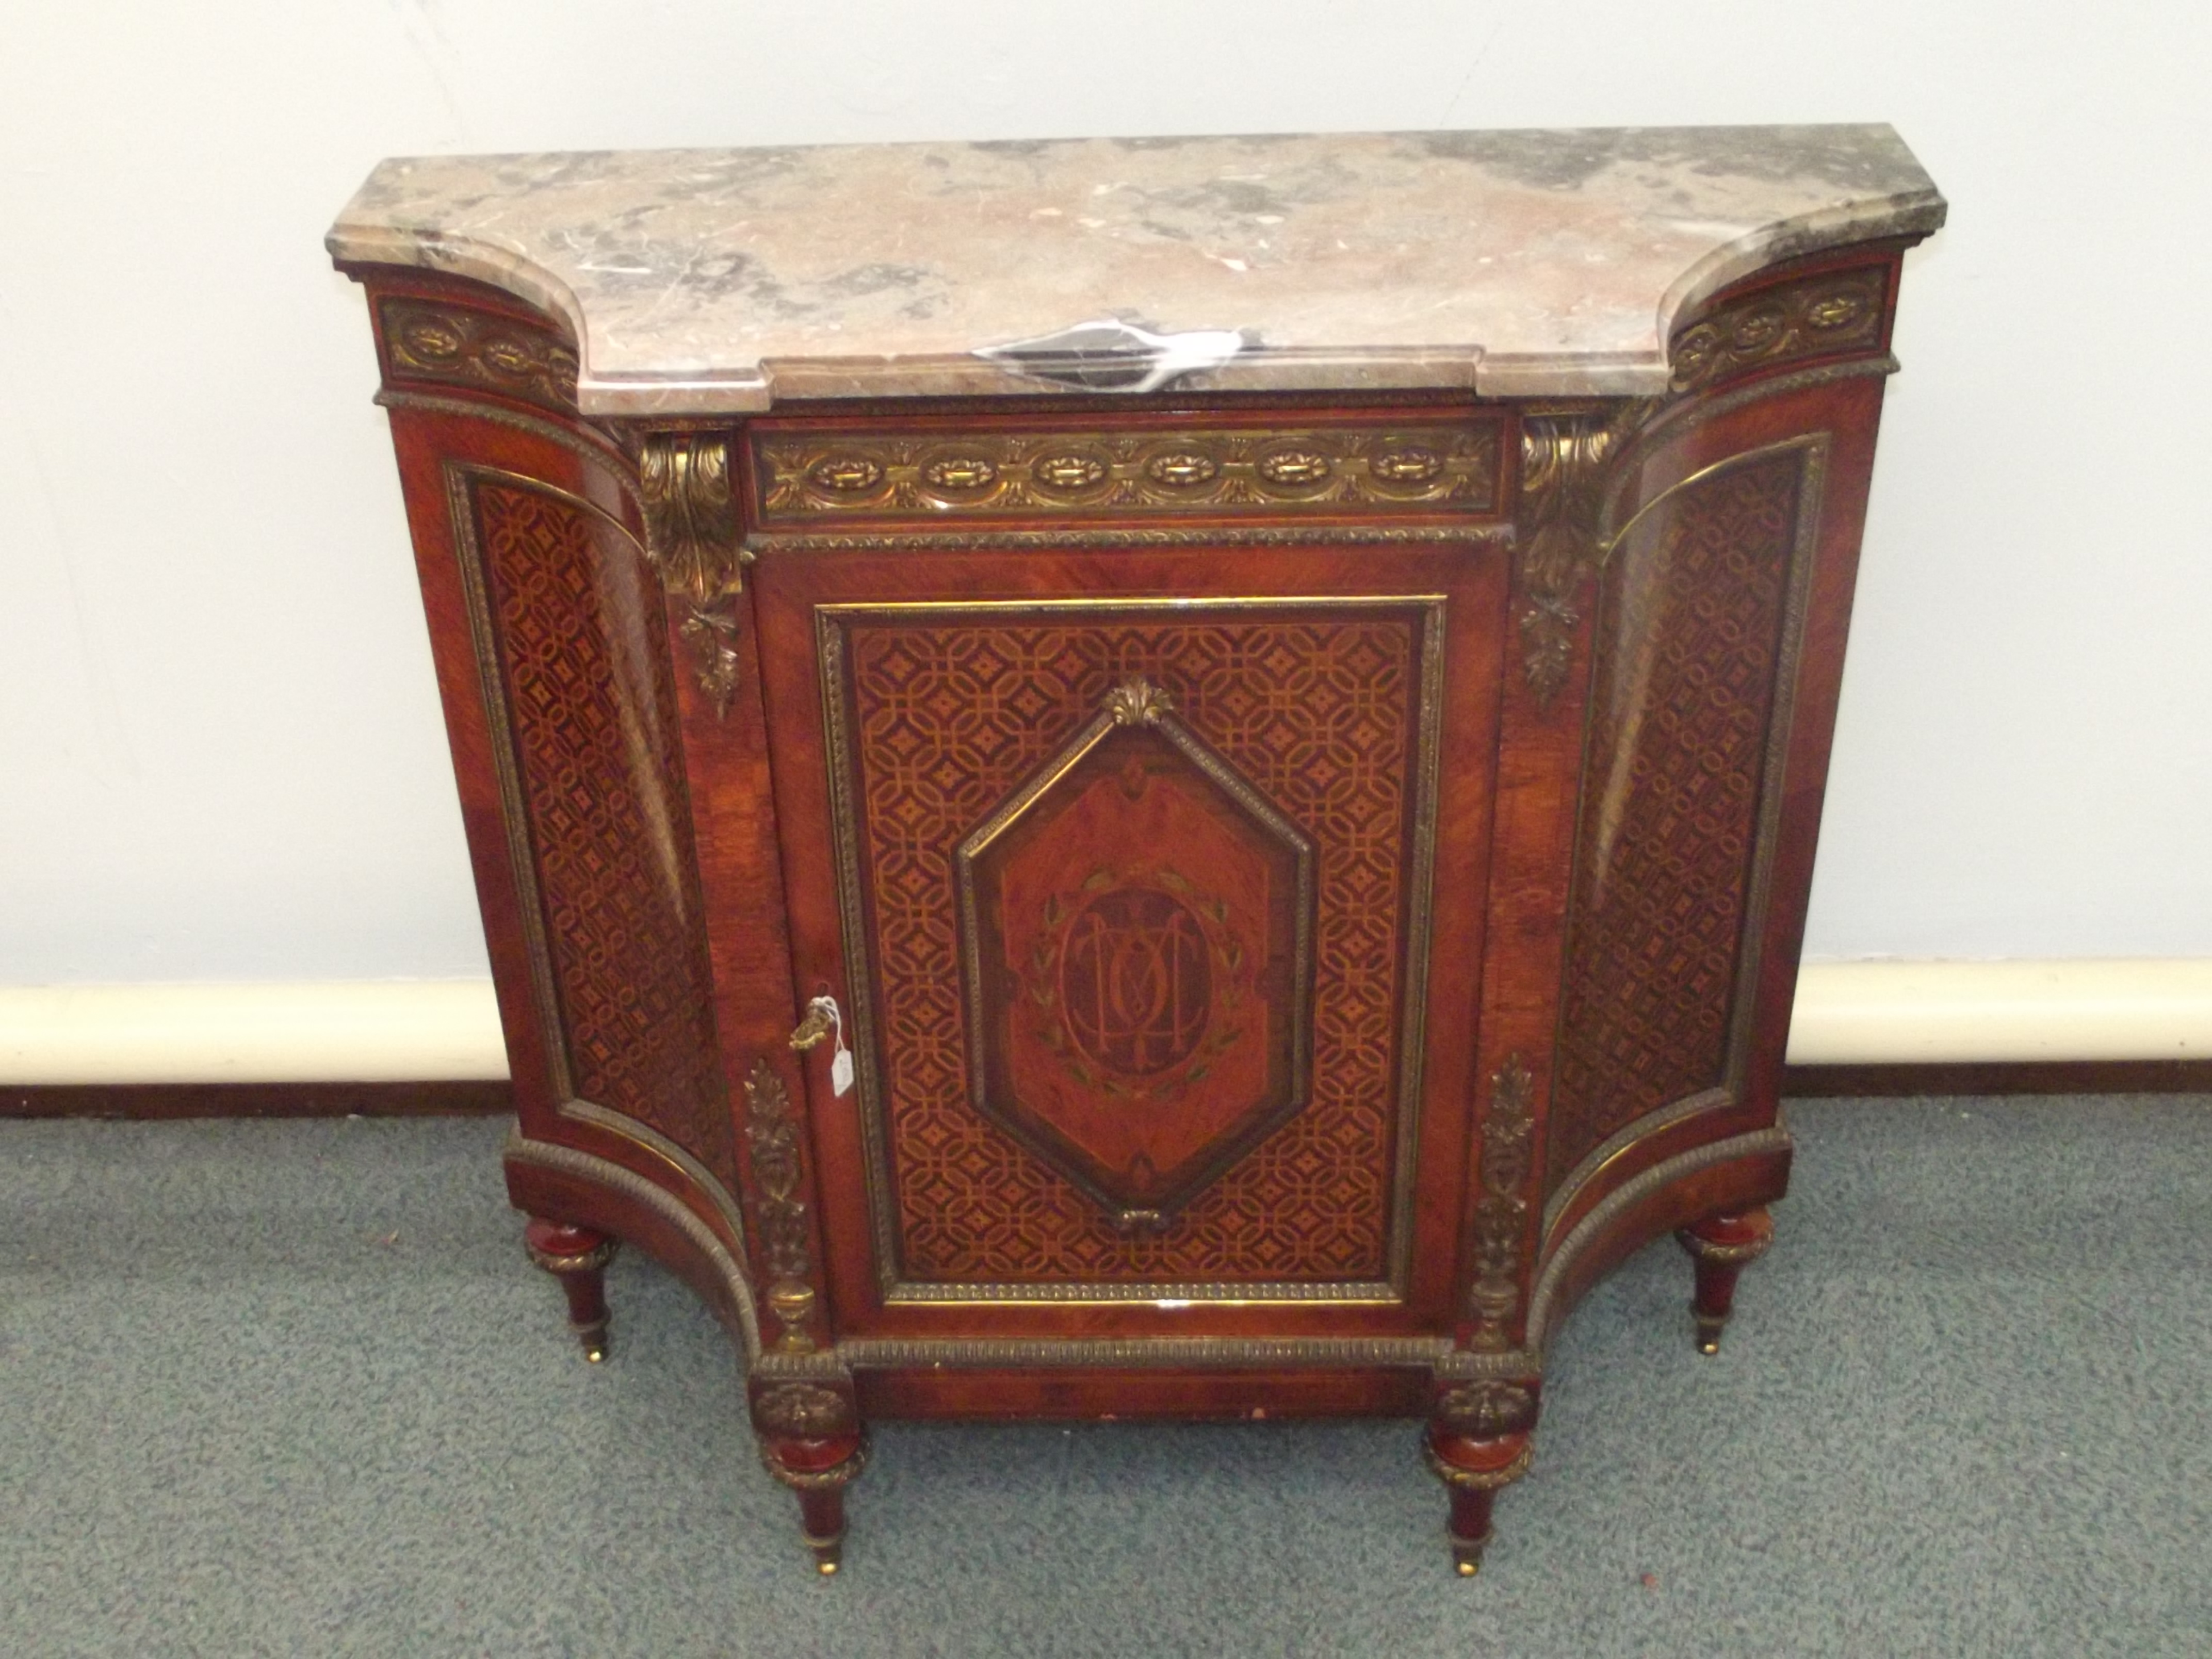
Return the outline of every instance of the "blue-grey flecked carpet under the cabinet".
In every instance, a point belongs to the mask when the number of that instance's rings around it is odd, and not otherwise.
[[[0,1124],[0,1655],[2205,1655],[2212,1099],[1820,1102],[1455,1579],[1402,1422],[887,1425],[816,1579],[721,1329],[586,1367],[489,1121]]]

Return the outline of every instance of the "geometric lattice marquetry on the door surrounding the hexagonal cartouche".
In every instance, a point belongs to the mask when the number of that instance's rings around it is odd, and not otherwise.
[[[973,613],[847,639],[876,1006],[909,1281],[1383,1279],[1418,630],[1407,613]],[[953,852],[1119,684],[1144,677],[1314,841],[1312,1104],[1124,1234],[969,1102]]]

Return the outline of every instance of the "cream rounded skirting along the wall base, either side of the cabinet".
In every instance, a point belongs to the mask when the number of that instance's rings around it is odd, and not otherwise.
[[[2203,1060],[2212,958],[1807,962],[1790,1062]],[[489,980],[0,987],[7,1084],[504,1077]]]

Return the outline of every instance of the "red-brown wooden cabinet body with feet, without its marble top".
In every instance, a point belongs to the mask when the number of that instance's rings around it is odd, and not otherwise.
[[[1573,1301],[1679,1230],[1712,1352],[1772,1234],[1907,241],[1652,398],[626,418],[349,265],[593,1358],[628,1239],[823,1571],[869,1418],[1394,1413],[1471,1573]]]

